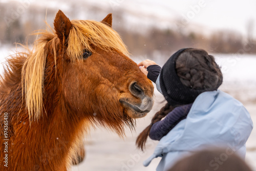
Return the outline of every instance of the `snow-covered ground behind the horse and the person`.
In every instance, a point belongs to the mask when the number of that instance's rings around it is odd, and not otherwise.
[[[0,62],[11,53],[11,49],[0,47]],[[216,54],[216,61],[222,67],[224,81],[221,90],[239,99],[249,111],[253,123],[256,123],[256,55],[223,55]],[[133,58],[136,62],[144,60],[143,57]],[[164,61],[159,64],[162,65]],[[1,66],[0,72],[3,71]],[[163,97],[155,90],[155,104],[153,110],[144,118],[137,120],[136,131],[126,130],[126,137],[120,138],[115,133],[98,127],[86,135],[84,147],[86,159],[72,171],[137,171],[155,170],[160,159],[154,159],[148,167],[142,162],[154,151],[157,141],[149,140],[145,153],[135,146],[136,137],[150,123],[153,115],[164,105]],[[246,162],[256,171],[256,128],[247,141]]]

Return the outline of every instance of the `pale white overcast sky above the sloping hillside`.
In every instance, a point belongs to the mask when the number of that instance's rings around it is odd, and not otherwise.
[[[161,17],[187,17],[189,22],[210,28],[236,30],[247,34],[249,20],[256,36],[256,0],[88,0],[116,8],[147,11]],[[200,8],[197,8],[197,7]],[[195,15],[194,15],[194,14]]]

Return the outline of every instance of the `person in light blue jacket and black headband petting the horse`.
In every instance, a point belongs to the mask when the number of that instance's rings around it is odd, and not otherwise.
[[[142,151],[148,136],[159,140],[144,166],[162,157],[157,170],[166,170],[182,156],[207,147],[226,147],[245,158],[253,124],[240,101],[218,90],[223,76],[214,56],[184,48],[163,68],[148,59],[138,66],[167,101],[136,140]]]

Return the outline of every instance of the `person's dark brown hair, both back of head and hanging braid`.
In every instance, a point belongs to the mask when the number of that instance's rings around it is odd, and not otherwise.
[[[220,67],[215,62],[214,56],[208,55],[205,50],[186,49],[176,59],[176,73],[184,86],[196,90],[214,91],[222,83]],[[148,125],[138,136],[136,145],[142,151],[154,123],[160,121],[176,106],[168,103],[157,112]]]

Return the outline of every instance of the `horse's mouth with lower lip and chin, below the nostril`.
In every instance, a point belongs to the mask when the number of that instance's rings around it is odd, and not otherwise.
[[[151,111],[151,107],[150,107],[150,109],[145,109],[145,110],[141,110],[140,109],[140,107],[138,106],[138,105],[134,105],[134,104],[131,104],[131,103],[129,103],[129,102],[127,102],[127,101],[124,101],[124,100],[119,100],[120,101],[120,103],[122,103],[123,104],[123,106],[126,108],[126,109],[128,109],[128,110],[130,110],[131,111],[131,113],[130,113],[130,117],[132,117],[132,118],[141,118],[141,117],[144,117],[148,112],[150,112]],[[128,114],[129,114],[128,113]],[[131,116],[132,115],[132,116]]]

